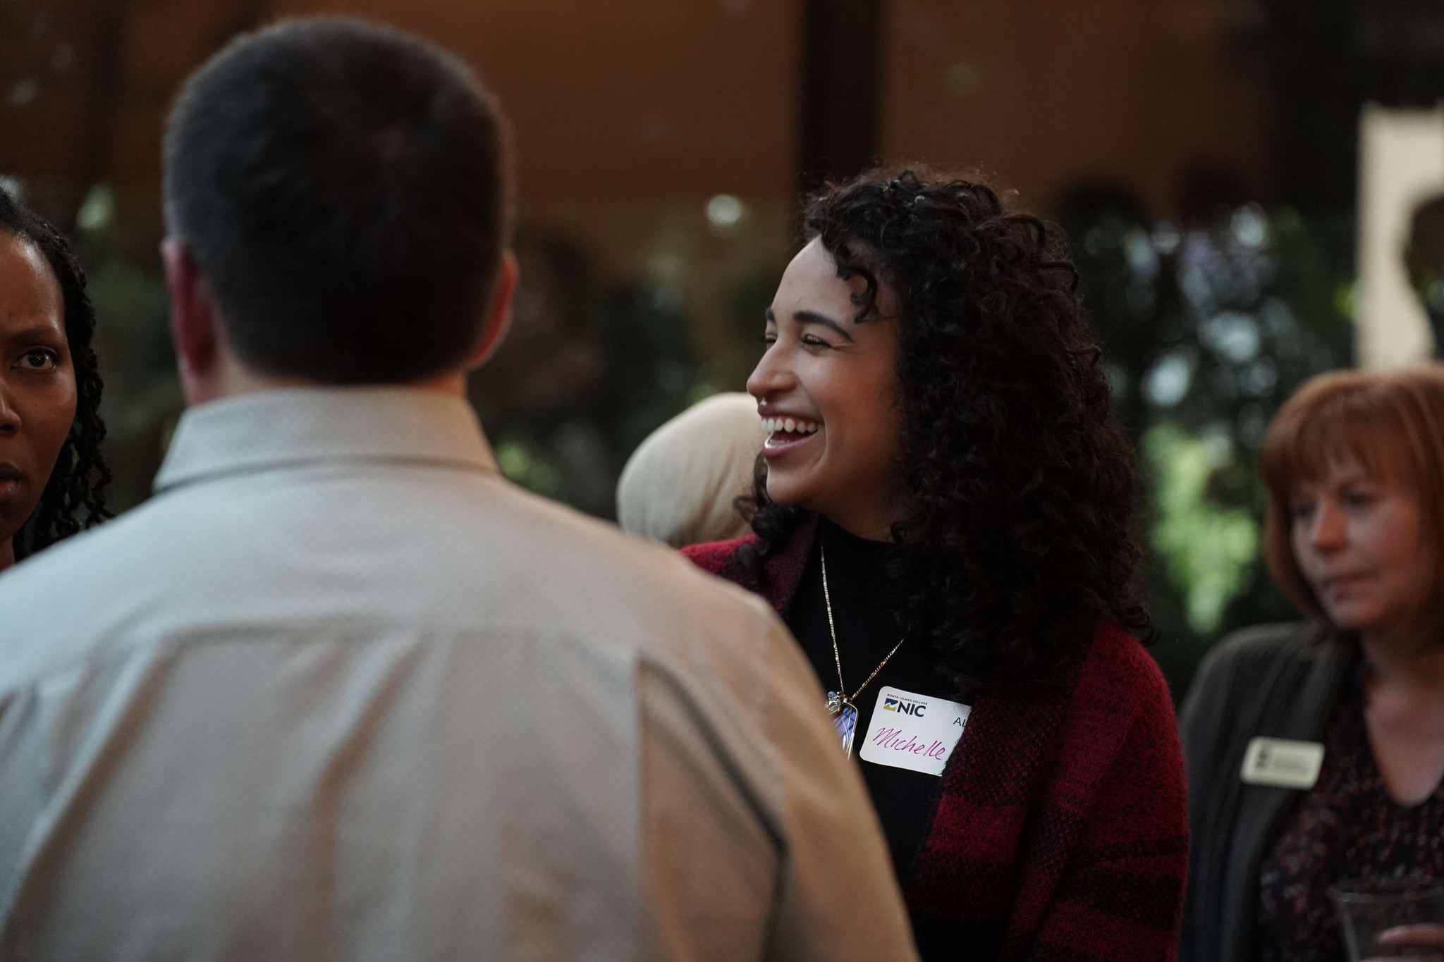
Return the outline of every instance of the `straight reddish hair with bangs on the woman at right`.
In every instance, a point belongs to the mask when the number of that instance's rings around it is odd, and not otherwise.
[[[1284,596],[1314,617],[1324,614],[1294,558],[1289,500],[1300,485],[1321,482],[1349,463],[1375,482],[1414,492],[1425,544],[1438,565],[1444,544],[1444,366],[1324,374],[1307,381],[1269,424],[1259,451],[1268,486],[1264,554]]]

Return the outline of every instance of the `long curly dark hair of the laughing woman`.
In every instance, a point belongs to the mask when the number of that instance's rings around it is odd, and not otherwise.
[[[1047,681],[1105,620],[1148,639],[1132,447],[1066,242],[989,186],[917,167],[825,187],[804,225],[865,280],[859,323],[879,319],[879,286],[897,303],[900,627],[957,685]],[[761,459],[742,506],[757,577],[806,512],[768,499]]]

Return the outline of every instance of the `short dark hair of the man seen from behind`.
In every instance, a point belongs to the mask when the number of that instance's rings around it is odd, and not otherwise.
[[[243,35],[166,128],[169,229],[256,371],[396,384],[474,350],[510,228],[508,137],[455,56],[348,17]]]

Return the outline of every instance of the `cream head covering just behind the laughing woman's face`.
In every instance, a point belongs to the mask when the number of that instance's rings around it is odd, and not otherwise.
[[[673,548],[723,541],[751,528],[734,502],[752,489],[762,449],[749,394],[718,394],[671,418],[627,460],[617,480],[622,531]]]

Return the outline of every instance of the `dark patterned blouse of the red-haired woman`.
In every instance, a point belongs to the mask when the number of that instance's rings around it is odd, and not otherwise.
[[[1261,962],[1346,962],[1328,888],[1356,878],[1444,878],[1444,783],[1418,805],[1383,785],[1363,718],[1363,675],[1324,734],[1318,782],[1294,806],[1259,871]]]

